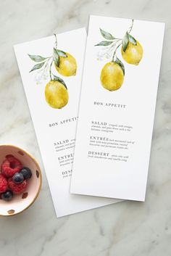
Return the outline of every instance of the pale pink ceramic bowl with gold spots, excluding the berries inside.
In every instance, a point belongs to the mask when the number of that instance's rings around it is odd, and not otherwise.
[[[32,170],[32,177],[28,181],[27,189],[22,194],[15,194],[12,201],[0,199],[0,216],[16,215],[33,205],[41,190],[42,176],[38,162],[25,150],[18,146],[0,145],[0,166],[7,154],[12,154],[22,163],[23,167]]]

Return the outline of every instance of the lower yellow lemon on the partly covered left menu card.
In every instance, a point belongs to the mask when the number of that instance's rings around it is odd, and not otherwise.
[[[46,84],[45,98],[50,107],[61,109],[68,102],[68,92],[62,83],[51,80]]]

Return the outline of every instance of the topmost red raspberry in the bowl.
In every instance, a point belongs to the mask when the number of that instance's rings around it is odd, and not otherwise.
[[[22,164],[17,158],[13,157],[12,154],[6,156],[7,160],[4,160],[1,164],[1,173],[9,178],[21,170]]]

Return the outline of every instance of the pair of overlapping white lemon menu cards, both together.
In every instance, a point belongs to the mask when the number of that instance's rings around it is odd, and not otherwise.
[[[163,37],[161,22],[91,16],[88,36],[14,46],[57,217],[145,200]]]

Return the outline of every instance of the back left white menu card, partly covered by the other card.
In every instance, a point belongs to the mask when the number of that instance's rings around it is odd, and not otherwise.
[[[85,47],[85,28],[14,46],[58,217],[118,202],[70,194]]]

